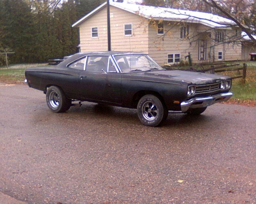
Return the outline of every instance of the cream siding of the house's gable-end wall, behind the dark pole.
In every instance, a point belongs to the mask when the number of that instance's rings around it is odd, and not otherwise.
[[[81,52],[107,51],[107,8],[100,10],[81,25]],[[111,50],[148,53],[148,24],[136,14],[110,6]],[[132,36],[124,35],[124,24],[132,24]],[[98,38],[92,38],[92,27],[98,27]]]

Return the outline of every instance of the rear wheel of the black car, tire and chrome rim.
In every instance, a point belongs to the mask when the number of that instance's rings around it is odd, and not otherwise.
[[[46,103],[52,112],[61,113],[70,108],[71,99],[68,99],[59,87],[51,86],[46,91]]]

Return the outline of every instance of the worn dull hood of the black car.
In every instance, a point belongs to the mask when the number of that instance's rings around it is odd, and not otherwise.
[[[179,81],[191,82],[192,84],[212,84],[220,80],[230,79],[228,76],[217,74],[205,74],[192,71],[180,70],[157,70],[150,72],[136,72],[136,75],[152,76],[159,79],[174,79]]]

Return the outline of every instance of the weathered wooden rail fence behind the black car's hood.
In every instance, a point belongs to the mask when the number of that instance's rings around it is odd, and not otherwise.
[[[204,69],[203,67],[201,67],[201,69],[195,69],[194,67],[189,67],[189,69],[175,69],[175,68],[166,67],[166,66],[164,66],[163,68],[172,69],[172,70],[203,72],[203,73],[210,72],[211,74],[220,73],[220,72],[226,72],[226,71],[237,71],[237,73],[240,74],[240,70],[243,70],[243,75],[240,75],[240,76],[237,76],[237,77],[232,77],[232,79],[243,78],[243,82],[245,83],[246,68],[247,68],[247,64],[246,63],[244,63],[243,67],[232,68],[232,69],[223,69],[223,68],[234,67],[234,66],[239,66],[239,65],[240,64],[211,66],[211,68],[208,68],[208,69]]]

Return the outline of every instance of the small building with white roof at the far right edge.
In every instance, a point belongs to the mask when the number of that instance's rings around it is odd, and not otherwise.
[[[256,46],[245,32],[242,32],[242,36],[243,40],[241,60],[250,60],[250,53],[256,53]],[[253,35],[252,37],[256,39],[255,35]]]

